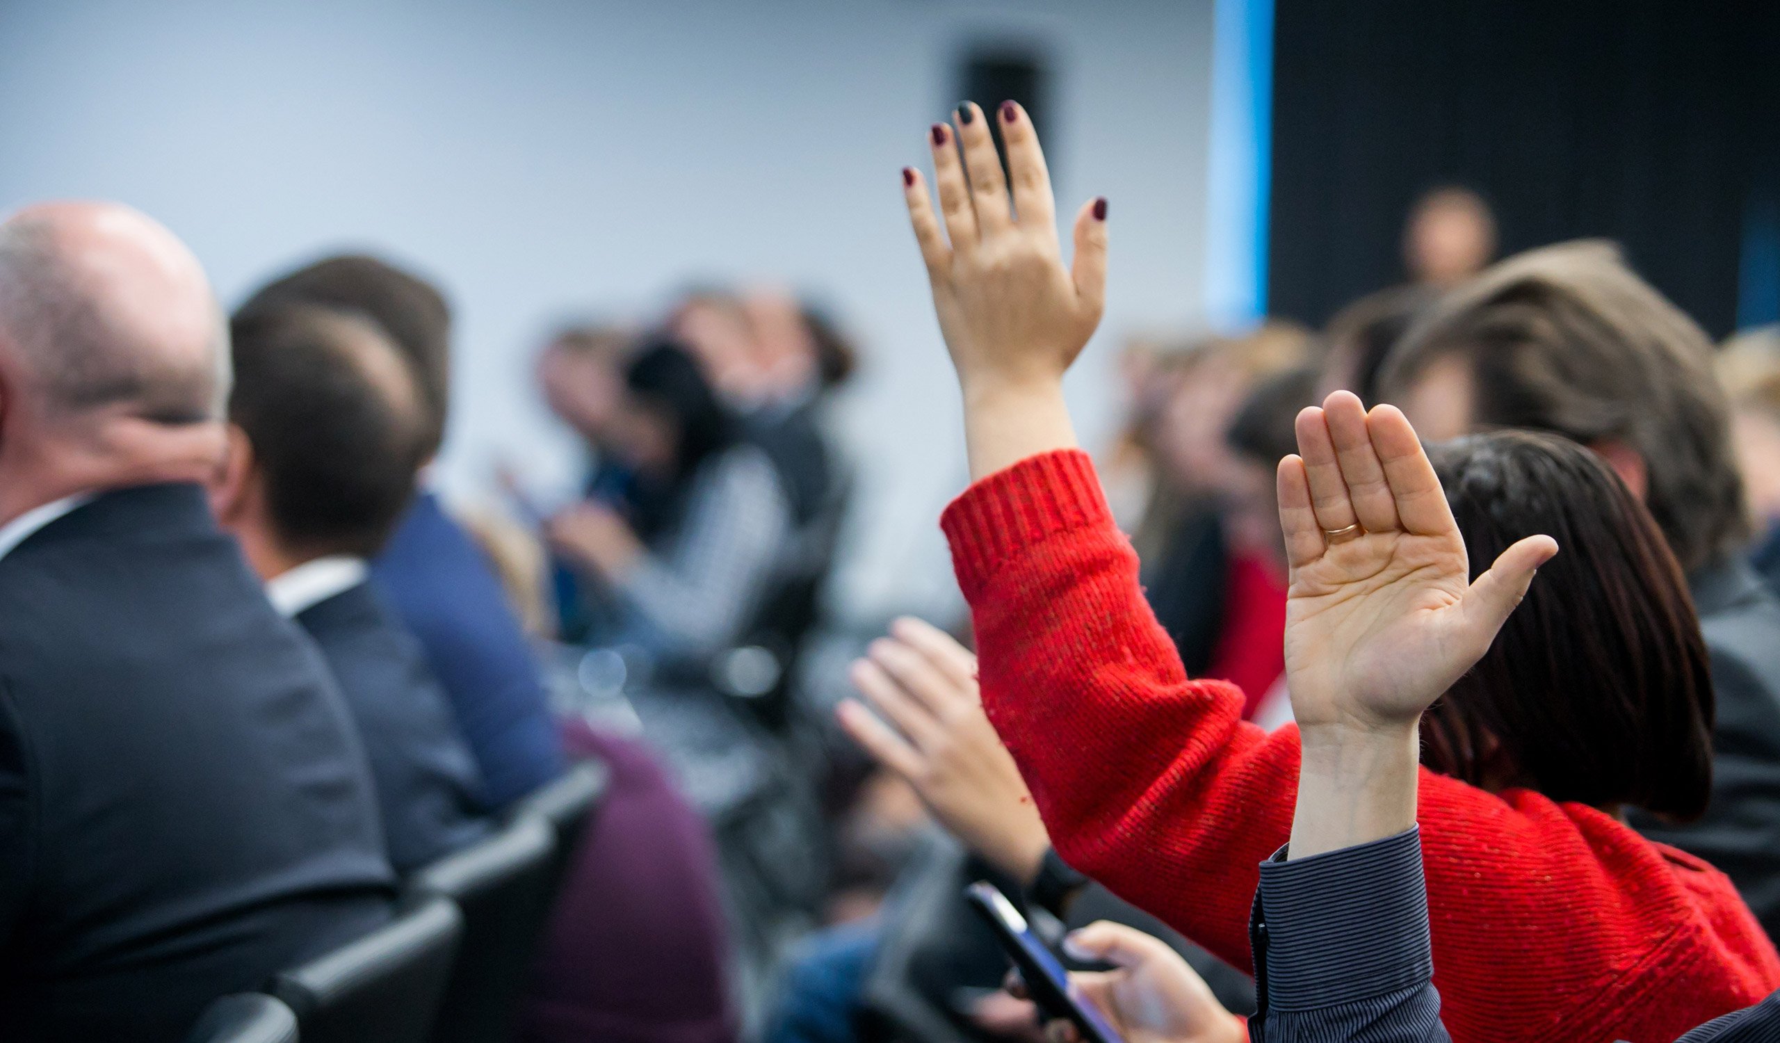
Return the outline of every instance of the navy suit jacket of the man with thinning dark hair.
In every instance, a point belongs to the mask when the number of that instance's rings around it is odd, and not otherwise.
[[[368,582],[297,612],[358,721],[395,872],[481,840],[482,776],[420,644]]]

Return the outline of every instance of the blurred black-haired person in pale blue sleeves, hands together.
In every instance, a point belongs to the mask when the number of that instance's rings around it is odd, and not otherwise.
[[[630,360],[609,452],[630,473],[627,495],[568,507],[545,529],[607,609],[587,641],[708,676],[774,577],[792,527],[785,488],[668,342]]]

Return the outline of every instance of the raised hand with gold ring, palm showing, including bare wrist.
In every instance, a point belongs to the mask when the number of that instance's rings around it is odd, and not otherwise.
[[[1470,580],[1420,440],[1349,392],[1298,415],[1280,461],[1290,564],[1285,683],[1303,740],[1290,856],[1415,822],[1417,721],[1495,641],[1558,543],[1529,536]]]

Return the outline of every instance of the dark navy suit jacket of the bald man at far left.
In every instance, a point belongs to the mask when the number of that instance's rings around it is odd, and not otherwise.
[[[345,703],[201,489],[0,559],[0,1039],[176,1041],[392,885]]]

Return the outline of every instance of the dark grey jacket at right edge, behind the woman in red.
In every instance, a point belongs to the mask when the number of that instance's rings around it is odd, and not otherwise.
[[[1698,822],[1632,826],[1725,870],[1780,938],[1780,600],[1741,559],[1696,571],[1693,602],[1712,657],[1712,803]]]

